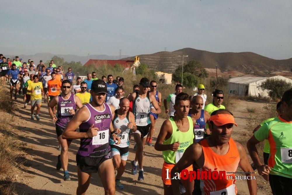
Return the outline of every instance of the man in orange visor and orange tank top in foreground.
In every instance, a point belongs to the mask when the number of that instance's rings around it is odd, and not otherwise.
[[[192,144],[187,148],[183,157],[176,163],[171,170],[170,178],[175,173],[180,173],[186,167],[193,165],[194,170],[210,172],[215,175],[219,171],[225,171],[227,176],[235,178],[235,174],[227,172],[236,172],[238,165],[244,172],[246,177],[255,178],[253,169],[248,162],[244,147],[231,138],[234,122],[233,115],[227,110],[217,110],[211,114],[209,128],[212,134]],[[196,172],[199,172],[196,171]],[[213,173],[216,171],[215,173]],[[220,174],[219,174],[220,175]],[[235,179],[214,179],[213,177],[205,177],[194,182],[193,194],[237,194]],[[187,178],[189,179],[189,178]],[[173,194],[180,194],[178,183],[180,180],[171,179]],[[247,179],[249,194],[257,193],[256,179]]]

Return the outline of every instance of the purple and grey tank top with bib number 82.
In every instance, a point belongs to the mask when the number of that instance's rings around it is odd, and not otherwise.
[[[76,111],[76,103],[74,94],[71,93],[68,100],[62,98],[62,94],[58,95],[58,108],[57,108],[57,117],[58,120],[56,125],[65,128],[67,123],[73,118],[73,115],[69,114],[69,110]]]

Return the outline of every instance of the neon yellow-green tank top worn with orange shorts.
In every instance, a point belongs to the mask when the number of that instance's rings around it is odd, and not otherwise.
[[[189,130],[187,132],[181,132],[178,130],[175,122],[172,118],[168,119],[171,122],[172,134],[170,138],[164,140],[162,144],[172,144],[179,141],[180,147],[177,151],[165,150],[162,151],[163,159],[168,164],[176,164],[180,158],[183,156],[183,153],[193,143],[194,133],[193,133],[193,121],[191,117],[187,117],[189,121]]]

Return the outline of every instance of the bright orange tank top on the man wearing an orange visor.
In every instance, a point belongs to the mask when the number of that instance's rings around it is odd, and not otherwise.
[[[226,176],[230,176],[234,179],[201,179],[195,180],[194,194],[237,194],[237,188],[235,186],[235,174],[229,174],[227,172],[236,172],[239,164],[239,152],[236,147],[236,143],[232,138],[228,141],[229,150],[225,155],[216,154],[208,145],[207,140],[200,141],[203,153],[204,153],[204,166],[201,171],[211,172],[217,168],[216,171],[226,171]]]

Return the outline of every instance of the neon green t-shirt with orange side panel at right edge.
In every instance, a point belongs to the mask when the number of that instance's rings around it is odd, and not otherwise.
[[[268,139],[270,156],[268,165],[271,175],[292,178],[292,122],[287,122],[280,116],[265,123],[254,136],[258,141]]]

